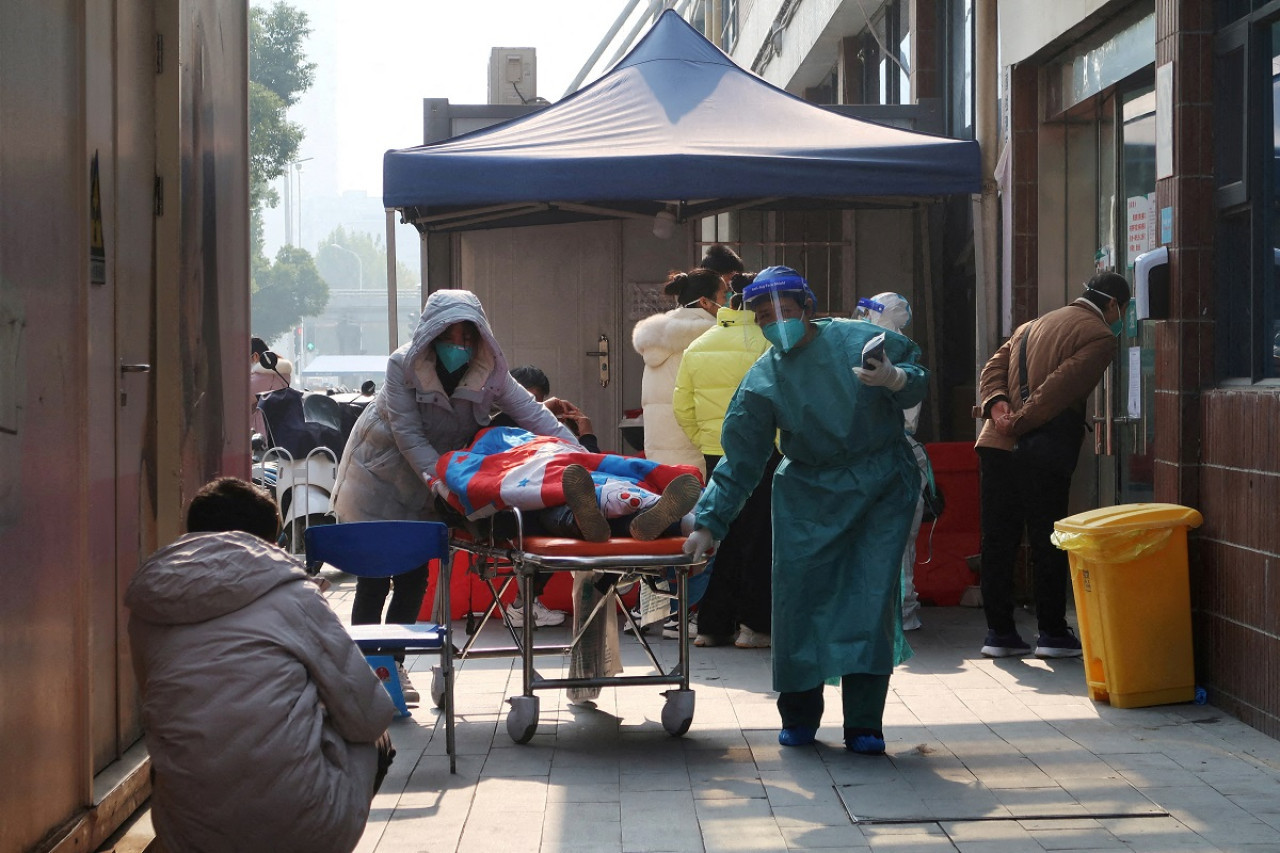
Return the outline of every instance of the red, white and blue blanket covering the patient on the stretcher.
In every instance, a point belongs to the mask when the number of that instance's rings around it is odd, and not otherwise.
[[[462,515],[483,519],[507,507],[541,510],[564,503],[561,478],[568,465],[591,473],[600,508],[611,519],[653,505],[681,474],[699,476],[698,469],[689,465],[589,453],[561,438],[516,426],[490,426],[476,433],[468,448],[440,456],[430,485]]]

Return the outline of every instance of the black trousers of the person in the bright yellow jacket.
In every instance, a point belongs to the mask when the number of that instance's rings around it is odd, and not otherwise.
[[[707,474],[719,456],[707,456]],[[760,483],[728,525],[716,551],[707,594],[698,605],[698,633],[728,637],[737,626],[769,634],[773,626],[773,470],[782,461],[774,452]]]

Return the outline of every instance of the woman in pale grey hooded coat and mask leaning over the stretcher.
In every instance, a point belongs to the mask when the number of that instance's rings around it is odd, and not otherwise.
[[[508,371],[507,357],[470,291],[435,291],[413,339],[387,360],[387,379],[351,430],[338,466],[333,508],[339,521],[439,520],[428,478],[442,453],[461,450],[502,411],[539,435],[577,444],[573,434]],[[351,621],[417,621],[426,566],[356,583]],[[417,692],[401,671],[406,699]]]

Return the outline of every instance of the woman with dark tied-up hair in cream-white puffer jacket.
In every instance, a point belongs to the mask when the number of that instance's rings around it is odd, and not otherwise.
[[[676,421],[673,397],[676,374],[685,350],[703,332],[716,325],[728,286],[709,269],[673,273],[664,292],[680,306],[636,323],[631,346],[644,359],[640,405],[644,409],[644,455],[663,465],[692,465],[707,474],[701,451]]]

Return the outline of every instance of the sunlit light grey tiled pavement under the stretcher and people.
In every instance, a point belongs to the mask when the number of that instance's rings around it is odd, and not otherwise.
[[[334,580],[344,613],[353,581]],[[1280,742],[1211,706],[1097,704],[1080,661],[986,660],[980,611],[923,616],[890,685],[882,758],[842,748],[836,688],[819,745],[780,747],[768,649],[694,649],[684,738],[662,727],[663,688],[622,686],[594,707],[539,692],[525,745],[506,729],[517,662],[472,658],[457,679],[457,775],[429,704],[396,721],[398,756],[358,849],[1280,852]],[[654,647],[673,658],[673,640]],[[622,648],[644,663],[635,639]],[[411,658],[424,695],[431,662]]]

